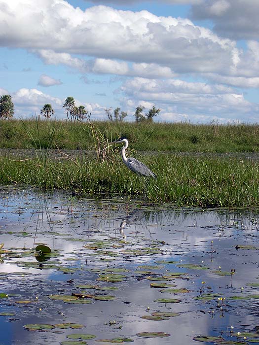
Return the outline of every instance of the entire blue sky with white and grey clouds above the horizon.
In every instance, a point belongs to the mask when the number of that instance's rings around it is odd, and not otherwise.
[[[258,0],[0,0],[0,95],[16,118],[72,96],[96,120],[259,122]]]

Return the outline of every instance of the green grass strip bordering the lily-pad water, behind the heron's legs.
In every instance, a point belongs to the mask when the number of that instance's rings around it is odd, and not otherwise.
[[[25,183],[41,188],[139,194],[177,205],[252,207],[259,205],[259,165],[238,159],[157,155],[143,161],[157,180],[136,176],[122,164],[95,160],[14,162],[0,158],[0,184]]]

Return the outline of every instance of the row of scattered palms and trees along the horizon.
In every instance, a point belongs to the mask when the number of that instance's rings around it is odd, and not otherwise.
[[[67,118],[69,121],[83,121],[86,118],[90,118],[91,113],[87,111],[87,109],[84,107],[84,105],[75,105],[74,97],[67,97],[64,104],[63,109],[65,109]],[[154,105],[152,108],[148,110],[145,114],[143,113],[145,109],[145,106],[139,105],[137,106],[135,113],[133,116],[135,117],[135,121],[137,123],[144,122],[144,121],[152,121],[153,117],[158,115],[160,110],[159,108],[156,108]],[[121,111],[119,107],[112,110],[112,108],[106,108],[105,112],[108,116],[109,121],[123,121],[126,116],[128,116],[128,113],[125,111]],[[52,108],[51,104],[44,104],[43,107],[40,110],[40,115],[46,118],[50,118],[52,115],[54,115],[55,110]],[[12,102],[12,96],[11,95],[2,95],[0,96],[0,119],[8,119],[13,117],[14,114],[14,104]],[[39,115],[38,115],[39,116]]]

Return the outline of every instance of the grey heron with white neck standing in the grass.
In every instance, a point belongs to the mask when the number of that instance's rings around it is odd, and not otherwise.
[[[127,166],[127,168],[137,175],[156,178],[156,175],[151,172],[151,170],[144,163],[138,161],[136,158],[126,157],[125,151],[129,146],[127,138],[119,138],[115,141],[112,141],[111,144],[118,144],[120,142],[123,142],[123,147],[121,150],[122,161]]]

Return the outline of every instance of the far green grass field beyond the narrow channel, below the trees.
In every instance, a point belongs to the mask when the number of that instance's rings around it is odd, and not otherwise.
[[[144,151],[177,152],[258,152],[259,125],[194,125],[188,123],[93,122],[104,138],[111,141],[126,136],[130,147]],[[38,128],[37,128],[38,126]],[[25,128],[26,127],[26,130]],[[0,120],[0,148],[47,147],[90,149],[94,146],[86,124],[68,121]],[[38,130],[38,132],[37,132]],[[27,131],[30,131],[32,140]]]

